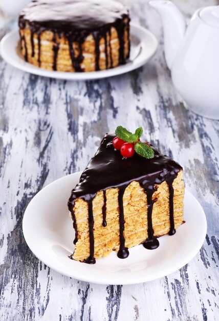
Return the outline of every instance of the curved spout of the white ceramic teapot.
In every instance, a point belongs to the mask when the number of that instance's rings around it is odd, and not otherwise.
[[[169,69],[183,42],[186,31],[186,21],[179,9],[166,0],[153,0],[149,5],[155,8],[161,16],[164,29],[164,53]]]

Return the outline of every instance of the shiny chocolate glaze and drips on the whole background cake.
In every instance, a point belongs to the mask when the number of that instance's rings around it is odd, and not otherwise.
[[[19,28],[29,27],[31,30],[32,57],[34,56],[34,33],[38,36],[38,50],[40,53],[40,33],[45,30],[52,31],[53,37],[53,69],[56,70],[58,44],[56,35],[64,34],[69,42],[72,66],[76,71],[82,71],[80,64],[83,61],[82,44],[89,34],[93,34],[95,40],[95,67],[99,70],[99,45],[103,37],[105,41],[106,68],[113,67],[111,50],[111,27],[117,30],[119,37],[119,63],[125,63],[124,57],[124,29],[127,29],[129,38],[128,10],[114,0],[33,0],[21,11],[19,16]],[[107,41],[107,35],[109,41]],[[75,55],[73,43],[78,44],[79,55]],[[21,37],[21,45],[25,46],[25,59],[28,61],[27,45],[25,37]],[[110,66],[108,66],[109,46]],[[130,43],[129,51],[130,51]],[[128,54],[129,55],[129,54]],[[127,57],[128,58],[128,57]],[[40,66],[40,55],[38,58]]]

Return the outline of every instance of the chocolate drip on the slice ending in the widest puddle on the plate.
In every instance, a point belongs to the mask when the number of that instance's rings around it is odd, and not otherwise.
[[[152,200],[152,195],[156,191],[154,186],[150,186],[150,189],[147,189],[147,234],[148,239],[145,240],[143,246],[145,249],[154,250],[159,247],[159,240],[154,236],[154,229],[152,224],[152,210],[154,202]]]

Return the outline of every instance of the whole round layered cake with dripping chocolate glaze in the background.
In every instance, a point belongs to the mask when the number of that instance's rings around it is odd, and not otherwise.
[[[129,57],[128,10],[114,0],[34,0],[21,11],[21,53],[58,71],[97,71]]]

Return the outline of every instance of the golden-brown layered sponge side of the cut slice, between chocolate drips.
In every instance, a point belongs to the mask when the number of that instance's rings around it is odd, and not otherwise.
[[[183,222],[184,182],[182,171],[173,182],[174,196],[174,228]],[[98,192],[93,199],[94,216],[94,256],[106,256],[113,250],[119,251],[119,204],[118,188],[106,190],[106,226],[103,226],[102,208],[104,205],[103,191]],[[166,182],[157,186],[152,200],[155,202],[152,210],[152,225],[155,236],[167,234],[170,230],[169,191]],[[124,208],[124,238],[125,247],[130,248],[148,239],[147,197],[138,182],[130,183],[123,196]],[[75,200],[75,218],[77,223],[78,241],[73,258],[84,261],[90,256],[89,213],[88,205],[82,198]]]

